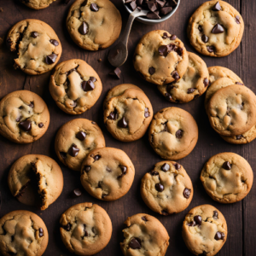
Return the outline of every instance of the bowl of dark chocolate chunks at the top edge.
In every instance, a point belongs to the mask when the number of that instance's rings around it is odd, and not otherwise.
[[[131,14],[135,10],[145,10],[148,14],[136,20],[153,25],[168,20],[177,10],[180,0],[123,0],[125,9]]]

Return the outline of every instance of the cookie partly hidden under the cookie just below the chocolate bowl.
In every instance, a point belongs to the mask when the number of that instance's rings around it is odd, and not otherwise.
[[[169,102],[186,103],[201,96],[209,84],[207,64],[198,55],[189,52],[189,66],[183,77],[171,84],[158,85],[160,93]]]

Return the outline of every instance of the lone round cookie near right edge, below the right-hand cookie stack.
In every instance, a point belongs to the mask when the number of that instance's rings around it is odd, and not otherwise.
[[[252,188],[253,170],[239,154],[213,155],[201,171],[207,194],[220,203],[241,201]]]

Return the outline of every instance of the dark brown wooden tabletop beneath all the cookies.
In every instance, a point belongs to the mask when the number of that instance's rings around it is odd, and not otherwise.
[[[64,113],[57,108],[55,102],[49,95],[49,76],[50,73],[45,73],[40,76],[28,76],[22,73],[20,70],[15,70],[13,67],[14,54],[11,54],[5,44],[0,48],[0,98],[12,92],[14,90],[32,90],[42,96],[44,101],[49,107],[49,113],[51,121],[49,129],[40,140],[35,143],[27,145],[18,145],[10,143],[4,137],[0,137],[0,190],[2,192],[3,203],[0,212],[0,217],[3,214],[24,209],[32,212],[36,212],[41,218],[44,219],[45,224],[49,230],[49,245],[44,255],[70,255],[66,247],[62,244],[59,234],[59,219],[61,213],[66,211],[68,207],[74,204],[91,201],[103,207],[109,214],[113,222],[113,236],[108,246],[97,255],[122,255],[119,249],[119,242],[123,240],[122,229],[124,227],[123,222],[128,216],[136,214],[138,212],[145,212],[160,219],[160,222],[165,225],[166,230],[170,236],[170,246],[166,255],[190,255],[189,250],[183,243],[181,236],[181,228],[183,218],[189,209],[199,206],[201,204],[212,204],[223,212],[224,217],[228,223],[228,239],[218,255],[234,256],[234,255],[256,255],[256,184],[247,197],[236,204],[221,205],[207,195],[204,191],[201,181],[200,172],[204,163],[213,155],[224,151],[234,152],[241,154],[251,166],[256,168],[256,140],[247,145],[231,145],[225,143],[218,134],[214,132],[209,125],[207,114],[204,109],[204,96],[201,96],[194,102],[189,102],[184,105],[177,105],[177,107],[183,108],[191,113],[198,126],[199,126],[199,141],[194,151],[189,154],[185,159],[179,160],[185,170],[189,173],[192,179],[195,195],[193,201],[189,205],[189,208],[185,211],[178,213],[177,215],[162,217],[155,212],[152,212],[144,204],[140,195],[140,180],[145,172],[148,172],[152,166],[158,161],[160,157],[154,153],[154,150],[150,148],[148,143],[148,137],[145,135],[142,139],[133,143],[121,143],[115,140],[106,130],[103,124],[102,117],[102,102],[106,96],[107,91],[115,85],[123,83],[131,83],[140,86],[148,98],[152,102],[154,112],[159,111],[161,108],[174,106],[170,102],[167,102],[156,89],[154,84],[149,84],[139,77],[132,66],[132,54],[138,43],[138,40],[144,33],[154,29],[164,29],[168,32],[174,33],[178,38],[183,40],[185,47],[189,51],[195,52],[195,49],[189,44],[189,40],[186,36],[186,27],[188,24],[189,16],[193,14],[195,9],[204,0],[181,0],[181,4],[177,9],[175,15],[170,20],[161,23],[160,25],[147,26],[139,22],[135,22],[129,40],[130,55],[125,65],[121,67],[122,74],[120,79],[113,79],[108,76],[108,72],[111,70],[107,61],[108,49],[100,50],[97,52],[89,52],[73,43],[69,37],[65,26],[65,20],[67,17],[67,10],[73,3],[70,1],[67,5],[64,4],[64,0],[57,0],[52,3],[49,8],[43,10],[33,10],[27,8],[18,0],[0,0],[0,7],[3,8],[3,12],[0,12],[0,37],[5,39],[10,27],[15,25],[16,22],[27,18],[44,20],[50,26],[53,27],[58,37],[61,39],[63,52],[61,55],[61,61],[66,61],[73,58],[82,59],[87,61],[92,67],[96,69],[96,72],[102,79],[103,91],[102,96],[96,102],[96,105],[90,109],[90,111],[79,115],[71,116]],[[209,58],[201,56],[207,62],[207,66],[223,66],[228,67],[238,74],[243,82],[251,90],[256,92],[255,80],[256,80],[256,49],[255,49],[255,34],[256,34],[256,1],[255,0],[229,0],[237,10],[240,11],[245,21],[245,32],[242,38],[241,45],[231,55],[224,58]],[[117,8],[121,12],[123,23],[128,18],[125,11],[125,7],[122,6],[120,0],[113,0]],[[124,27],[124,26],[123,26]],[[97,60],[102,58],[102,62]],[[54,150],[55,135],[61,125],[65,124],[68,120],[74,118],[86,118],[92,119],[101,126],[106,143],[108,147],[121,148],[130,157],[134,163],[136,169],[136,175],[131,190],[127,195],[118,201],[106,202],[98,201],[92,196],[88,195],[83,189],[83,195],[79,198],[73,199],[71,192],[73,189],[81,188],[79,182],[79,173],[68,170],[66,166],[63,166],[57,159]],[[34,207],[26,207],[11,195],[8,185],[7,177],[10,166],[24,154],[45,154],[51,158],[57,160],[60,164],[64,174],[64,189],[57,201],[51,205],[46,211],[40,212]],[[82,189],[82,188],[81,188]]]

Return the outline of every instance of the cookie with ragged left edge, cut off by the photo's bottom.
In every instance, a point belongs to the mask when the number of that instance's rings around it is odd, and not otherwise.
[[[157,218],[138,213],[125,221],[125,240],[120,242],[125,256],[166,255],[169,246],[166,228]]]

